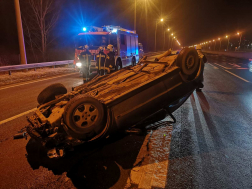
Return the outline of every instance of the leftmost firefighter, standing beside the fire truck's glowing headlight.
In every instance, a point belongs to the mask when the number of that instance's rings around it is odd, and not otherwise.
[[[87,82],[89,79],[89,66],[91,61],[91,53],[89,52],[89,46],[85,45],[83,52],[79,55],[79,60],[82,64],[81,71],[83,76],[83,83]]]

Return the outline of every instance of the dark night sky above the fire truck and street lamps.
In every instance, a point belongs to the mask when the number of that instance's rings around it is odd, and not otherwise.
[[[118,25],[134,29],[134,0],[64,0],[54,30],[58,45],[68,46],[83,26]],[[145,3],[146,2],[146,3]],[[21,5],[22,6],[22,5]],[[252,38],[252,0],[138,0],[137,33],[146,49],[154,44],[158,25],[158,48],[168,27],[183,46],[243,32]],[[13,0],[0,0],[0,48],[18,51]],[[63,40],[62,40],[63,39]],[[147,48],[148,46],[148,48]]]

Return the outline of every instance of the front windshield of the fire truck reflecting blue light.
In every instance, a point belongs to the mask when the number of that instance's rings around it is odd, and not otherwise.
[[[100,46],[108,45],[108,37],[106,35],[82,35],[75,40],[75,47],[82,49],[83,46],[88,45],[90,48],[98,48]]]

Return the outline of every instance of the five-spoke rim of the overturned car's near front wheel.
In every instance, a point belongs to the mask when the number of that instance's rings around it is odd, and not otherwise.
[[[73,112],[73,122],[77,127],[84,128],[93,125],[98,118],[98,109],[93,104],[79,105]]]

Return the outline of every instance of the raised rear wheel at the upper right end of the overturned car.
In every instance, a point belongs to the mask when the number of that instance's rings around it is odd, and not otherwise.
[[[180,67],[187,79],[194,79],[199,70],[199,56],[195,49],[184,48],[177,57],[177,66]]]

